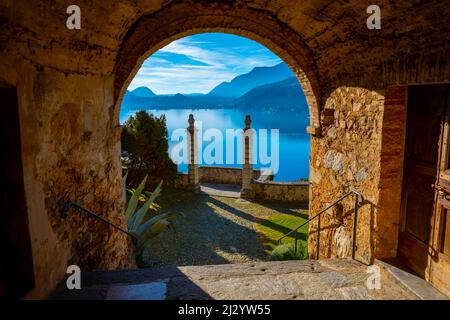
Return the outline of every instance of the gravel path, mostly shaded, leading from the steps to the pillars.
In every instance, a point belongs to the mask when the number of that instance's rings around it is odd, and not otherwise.
[[[144,250],[143,260],[150,267],[269,260],[255,222],[271,214],[298,212],[298,206],[292,209],[284,204],[207,195],[177,198],[163,207],[183,216],[177,217],[172,228],[154,238]]]

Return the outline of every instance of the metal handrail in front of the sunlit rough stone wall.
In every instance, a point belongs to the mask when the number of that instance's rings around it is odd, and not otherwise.
[[[316,246],[317,246],[317,259],[319,259],[319,249],[320,249],[320,217],[321,215],[328,211],[329,209],[331,209],[332,207],[334,207],[335,205],[337,205],[339,202],[341,202],[342,200],[348,198],[351,195],[355,195],[355,208],[354,208],[354,215],[353,215],[353,239],[352,239],[352,258],[355,259],[355,253],[356,253],[356,225],[358,223],[358,208],[359,208],[359,199],[361,198],[361,202],[364,201],[364,197],[362,196],[361,193],[359,193],[358,191],[351,189],[349,192],[347,192],[346,194],[344,194],[343,196],[341,196],[340,198],[338,198],[336,201],[334,201],[332,204],[328,205],[327,207],[325,207],[324,209],[320,210],[318,213],[316,213],[314,216],[312,216],[311,218],[309,218],[308,220],[306,220],[304,223],[302,223],[301,225],[299,225],[297,228],[289,231],[288,233],[286,233],[285,235],[283,235],[281,238],[278,239],[278,244],[281,244],[281,241],[290,236],[292,233],[294,233],[294,252],[295,254],[297,254],[297,231],[298,229],[300,229],[301,227],[307,225],[309,222],[311,222],[314,219],[318,219],[318,223],[317,223],[317,242],[316,242]]]

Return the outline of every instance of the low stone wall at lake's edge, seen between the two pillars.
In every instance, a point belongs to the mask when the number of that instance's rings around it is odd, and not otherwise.
[[[242,168],[199,167],[200,182],[242,184]],[[259,179],[261,170],[253,170],[253,179]]]

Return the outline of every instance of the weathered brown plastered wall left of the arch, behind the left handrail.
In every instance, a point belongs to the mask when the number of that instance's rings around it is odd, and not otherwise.
[[[2,57],[2,62],[8,61]],[[128,239],[85,214],[60,218],[75,200],[125,226],[120,128],[111,119],[109,77],[2,63],[0,78],[19,95],[22,160],[36,288],[46,295],[77,264],[82,271],[132,266]],[[99,125],[101,124],[101,125]]]

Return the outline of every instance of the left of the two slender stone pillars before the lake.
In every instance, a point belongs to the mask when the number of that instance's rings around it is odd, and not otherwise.
[[[187,127],[188,137],[188,182],[189,188],[194,192],[200,190],[199,171],[198,171],[198,141],[197,131],[195,127],[194,115],[189,115],[189,126]]]

